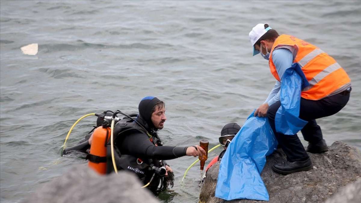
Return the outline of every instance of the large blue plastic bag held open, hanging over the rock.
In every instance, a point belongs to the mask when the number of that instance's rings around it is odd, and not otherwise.
[[[253,112],[223,155],[216,186],[218,198],[269,200],[260,173],[277,141],[267,118],[254,117]]]

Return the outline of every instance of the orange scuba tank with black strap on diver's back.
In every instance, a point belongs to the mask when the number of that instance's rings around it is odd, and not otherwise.
[[[110,139],[110,128],[99,126],[94,130],[90,152],[87,155],[88,166],[100,174],[106,173],[106,143]]]

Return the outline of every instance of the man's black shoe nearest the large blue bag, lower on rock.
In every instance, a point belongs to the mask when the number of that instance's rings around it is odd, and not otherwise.
[[[272,169],[280,174],[290,174],[297,171],[307,171],[312,169],[311,159],[308,158],[305,161],[286,161],[283,163],[273,165]]]

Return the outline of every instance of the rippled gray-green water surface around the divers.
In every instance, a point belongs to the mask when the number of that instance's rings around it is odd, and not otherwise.
[[[0,3],[3,203],[20,202],[72,165],[86,164],[58,153],[79,117],[108,109],[134,113],[147,95],[166,103],[159,133],[166,145],[206,138],[215,146],[222,126],[242,125],[274,85],[267,61],[252,57],[248,40],[261,22],[317,45],[344,67],[351,99],[318,124],[327,144],[361,148],[361,1]],[[39,44],[38,54],[24,55],[20,47],[31,43]],[[69,145],[94,122],[81,121]],[[199,168],[180,183],[193,160],[168,161],[176,181],[162,201],[198,201]]]

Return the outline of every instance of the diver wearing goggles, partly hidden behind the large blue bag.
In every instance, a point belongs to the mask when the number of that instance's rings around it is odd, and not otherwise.
[[[207,168],[205,171],[212,167],[213,164],[217,163],[217,161],[221,161],[223,155],[225,154],[227,147],[229,143],[231,143],[232,139],[236,136],[238,131],[241,129],[241,126],[239,126],[236,123],[229,123],[223,126],[221,130],[221,137],[218,138],[219,144],[224,148],[224,150],[219,154],[218,156],[214,157],[212,161],[207,165]],[[204,173],[203,180],[205,178],[206,173]]]

